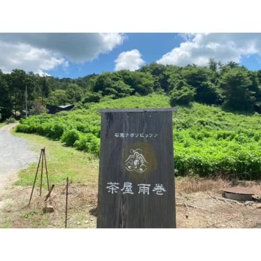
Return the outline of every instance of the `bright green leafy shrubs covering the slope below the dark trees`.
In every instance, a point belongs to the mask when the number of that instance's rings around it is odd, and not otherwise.
[[[61,139],[96,156],[100,148],[100,113],[105,108],[170,107],[159,94],[102,98],[88,110],[41,114],[22,119],[17,131]],[[220,107],[192,103],[173,113],[174,167],[177,175],[261,177],[261,117],[224,112]]]

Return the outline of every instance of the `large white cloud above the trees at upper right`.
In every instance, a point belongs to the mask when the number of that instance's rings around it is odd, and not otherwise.
[[[181,37],[185,41],[158,59],[158,64],[206,66],[209,58],[239,63],[243,55],[261,54],[260,33],[195,33]]]

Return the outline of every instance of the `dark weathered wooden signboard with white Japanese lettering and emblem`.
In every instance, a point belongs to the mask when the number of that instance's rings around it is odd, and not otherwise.
[[[175,228],[170,109],[100,110],[97,228]]]

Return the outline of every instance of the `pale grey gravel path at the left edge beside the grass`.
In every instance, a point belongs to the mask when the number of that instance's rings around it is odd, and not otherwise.
[[[16,125],[0,128],[0,179],[37,161],[37,154],[29,149],[27,140],[10,134]]]

